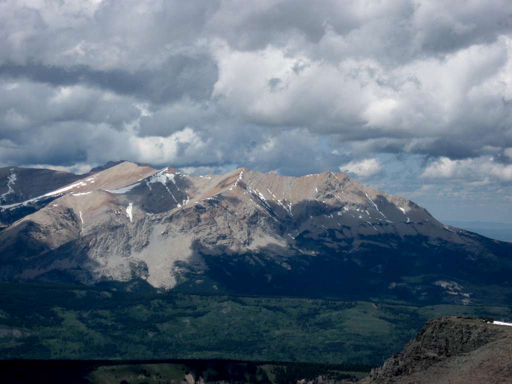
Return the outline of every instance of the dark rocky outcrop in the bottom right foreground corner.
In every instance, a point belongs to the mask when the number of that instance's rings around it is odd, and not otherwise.
[[[360,383],[511,382],[512,326],[442,317],[429,321],[400,354]]]

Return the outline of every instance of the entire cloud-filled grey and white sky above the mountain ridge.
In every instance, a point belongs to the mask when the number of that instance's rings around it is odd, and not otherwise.
[[[512,2],[0,0],[0,166],[119,159],[512,223]]]

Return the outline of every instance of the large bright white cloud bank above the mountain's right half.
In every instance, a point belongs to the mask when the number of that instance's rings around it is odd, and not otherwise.
[[[368,152],[478,156],[512,144],[512,39],[388,67],[373,57],[332,62],[268,45],[240,51],[217,40],[218,105],[240,119]],[[478,140],[476,139],[478,137]],[[463,143],[463,145],[461,145]]]

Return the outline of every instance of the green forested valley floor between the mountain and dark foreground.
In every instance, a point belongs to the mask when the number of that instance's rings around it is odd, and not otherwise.
[[[426,319],[507,307],[414,307],[286,297],[0,284],[2,358],[355,362],[377,365]]]

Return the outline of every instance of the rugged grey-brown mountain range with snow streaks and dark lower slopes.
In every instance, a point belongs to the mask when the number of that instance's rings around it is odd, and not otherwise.
[[[96,170],[45,189],[25,168],[0,169],[0,279],[465,304],[492,284],[509,300],[512,244],[343,173]]]

